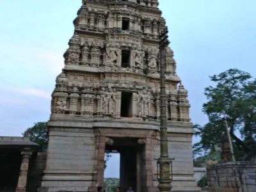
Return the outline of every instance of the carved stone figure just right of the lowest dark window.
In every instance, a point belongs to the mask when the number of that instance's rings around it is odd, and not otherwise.
[[[146,118],[150,112],[151,93],[144,88],[138,92],[138,116]]]

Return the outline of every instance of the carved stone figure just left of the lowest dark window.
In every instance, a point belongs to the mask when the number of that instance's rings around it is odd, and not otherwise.
[[[114,115],[116,104],[116,92],[108,86],[107,90],[103,92],[103,112],[105,115]]]

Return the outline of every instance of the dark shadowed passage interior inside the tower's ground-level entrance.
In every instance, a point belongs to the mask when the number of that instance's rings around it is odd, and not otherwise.
[[[138,143],[138,138],[113,138],[113,141],[113,145],[106,145],[105,152],[119,154],[119,186],[121,191],[127,191],[131,187],[133,191],[141,192],[145,146]]]

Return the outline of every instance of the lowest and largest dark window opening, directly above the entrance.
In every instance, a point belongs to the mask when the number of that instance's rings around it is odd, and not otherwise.
[[[122,92],[120,115],[122,117],[132,117],[132,93]]]

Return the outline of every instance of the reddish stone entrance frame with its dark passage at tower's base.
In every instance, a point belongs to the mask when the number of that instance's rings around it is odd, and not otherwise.
[[[152,169],[152,147],[156,142],[156,131],[140,129],[95,129],[97,135],[97,180],[104,183],[104,154],[111,150],[120,153],[120,187],[126,191],[130,186],[136,191],[154,188]],[[93,179],[94,180],[94,179]]]

